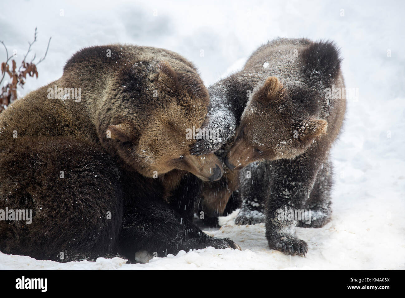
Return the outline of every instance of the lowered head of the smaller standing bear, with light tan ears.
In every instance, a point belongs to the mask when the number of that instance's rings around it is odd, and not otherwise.
[[[302,90],[298,93],[302,94]],[[288,104],[297,90],[286,90],[269,77],[248,101],[235,141],[224,162],[230,168],[260,160],[291,159],[302,154],[312,141],[326,133],[328,123],[305,118]]]

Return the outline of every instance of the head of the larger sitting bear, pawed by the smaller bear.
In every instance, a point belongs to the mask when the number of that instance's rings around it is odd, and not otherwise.
[[[215,154],[191,155],[195,139],[186,137],[188,129],[203,124],[208,91],[194,69],[171,63],[176,67],[143,60],[123,71],[113,84],[119,87],[111,88],[113,103],[103,103],[99,138],[124,167],[144,176],[177,169],[217,180],[222,163]]]

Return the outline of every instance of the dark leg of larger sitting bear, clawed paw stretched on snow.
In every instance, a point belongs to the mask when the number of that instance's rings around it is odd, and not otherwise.
[[[172,197],[171,204],[153,195],[147,199],[136,195],[126,197],[120,254],[139,261],[136,253],[140,251],[146,251],[151,257],[165,257],[169,253],[209,246],[240,249],[232,240],[208,236],[193,223],[191,207],[199,193],[200,180],[187,175],[173,192],[177,199]]]

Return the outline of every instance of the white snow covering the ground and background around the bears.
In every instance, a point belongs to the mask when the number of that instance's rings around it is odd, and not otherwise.
[[[43,2],[0,3],[0,40],[9,50],[25,53],[37,26],[33,50],[41,56],[52,36],[38,80],[28,79],[21,95],[60,77],[66,60],[88,45],[121,42],[177,51],[198,66],[208,86],[241,67],[261,43],[282,36],[335,40],[342,48],[346,87],[358,88],[359,97],[348,101],[345,131],[333,149],[333,220],[322,229],[297,228],[309,244],[307,257],[271,251],[264,225],[236,226],[234,213],[208,233],[231,238],[242,251],[207,248],[148,264],[119,258],[60,264],[0,253],[0,270],[405,269],[402,1]],[[4,60],[1,55],[2,49]]]

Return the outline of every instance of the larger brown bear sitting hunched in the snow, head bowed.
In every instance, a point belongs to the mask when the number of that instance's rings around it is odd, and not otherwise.
[[[9,213],[0,251],[136,261],[137,251],[239,248],[190,220],[201,181],[222,175],[215,155],[192,156],[185,137],[207,105],[179,54],[119,44],[77,52],[60,79],[0,115],[0,210]],[[10,216],[19,210],[31,223]]]

